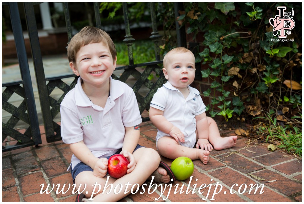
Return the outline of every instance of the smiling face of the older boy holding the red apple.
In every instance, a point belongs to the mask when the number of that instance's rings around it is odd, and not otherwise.
[[[76,61],[70,62],[70,67],[85,85],[103,86],[109,83],[109,77],[116,68],[116,59],[112,58],[108,45],[90,43],[79,49]]]

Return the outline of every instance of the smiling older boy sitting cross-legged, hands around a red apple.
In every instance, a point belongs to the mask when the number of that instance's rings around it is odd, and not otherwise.
[[[158,182],[170,182],[170,172],[159,167],[159,154],[137,144],[141,116],[132,88],[111,78],[117,58],[110,36],[87,26],[71,39],[67,52],[72,71],[80,76],[60,107],[61,136],[73,153],[69,169],[77,189],[81,186],[80,192],[85,193],[76,201],[92,201],[88,198],[98,190],[96,182],[102,188],[94,202],[118,201],[151,174]],[[123,154],[130,161],[127,174],[118,179],[106,177],[113,154]],[[123,190],[114,193],[121,185]]]

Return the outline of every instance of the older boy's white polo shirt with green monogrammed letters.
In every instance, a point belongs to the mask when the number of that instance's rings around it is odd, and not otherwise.
[[[110,78],[110,96],[105,108],[92,103],[81,78],[60,104],[61,137],[64,143],[84,141],[96,157],[106,157],[123,147],[125,127],[139,125],[141,115],[133,89]],[[72,155],[71,166],[81,161]]]

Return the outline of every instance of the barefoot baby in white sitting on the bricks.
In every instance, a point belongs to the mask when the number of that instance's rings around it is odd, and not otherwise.
[[[195,57],[190,50],[172,49],[163,64],[168,81],[154,94],[149,111],[158,130],[157,150],[171,159],[185,156],[207,164],[209,151],[233,147],[237,136],[220,136],[216,122],[206,116],[199,91],[189,86],[195,76]]]

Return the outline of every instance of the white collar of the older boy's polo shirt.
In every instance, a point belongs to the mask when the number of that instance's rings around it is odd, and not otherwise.
[[[123,95],[124,90],[116,82],[116,80],[112,79],[112,77],[110,77],[109,80],[110,80],[110,96],[109,96],[109,98],[114,101],[119,96]],[[89,99],[89,97],[83,91],[83,88],[81,86],[81,81],[82,81],[82,79],[79,77],[78,81],[77,81],[77,84],[75,86],[75,101],[76,101],[76,105],[77,106],[82,106],[82,107],[93,106],[92,101]]]

